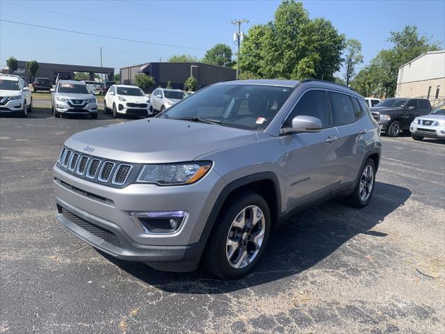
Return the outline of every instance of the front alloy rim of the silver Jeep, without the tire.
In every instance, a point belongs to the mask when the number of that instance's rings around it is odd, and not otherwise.
[[[226,241],[230,267],[242,269],[252,263],[263,244],[265,230],[264,214],[256,205],[245,207],[236,215]]]

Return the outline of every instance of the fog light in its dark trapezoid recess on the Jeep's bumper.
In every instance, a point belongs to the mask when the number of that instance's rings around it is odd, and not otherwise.
[[[185,211],[130,212],[133,223],[144,233],[172,233],[185,220]]]

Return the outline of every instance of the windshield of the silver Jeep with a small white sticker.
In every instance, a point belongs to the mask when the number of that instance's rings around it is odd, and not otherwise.
[[[201,118],[225,127],[264,130],[291,95],[292,88],[217,85],[204,88],[165,112],[167,118]],[[159,117],[162,117],[161,113]]]

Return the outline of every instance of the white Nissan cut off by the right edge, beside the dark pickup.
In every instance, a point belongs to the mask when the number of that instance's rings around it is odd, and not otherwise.
[[[440,106],[428,115],[414,118],[410,125],[414,141],[423,138],[445,139],[445,106]]]

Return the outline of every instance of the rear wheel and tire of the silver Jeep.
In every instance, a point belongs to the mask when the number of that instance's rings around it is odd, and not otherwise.
[[[359,180],[354,192],[347,198],[347,202],[352,207],[362,208],[368,205],[373,196],[375,186],[375,164],[373,159],[368,158],[360,170]]]

